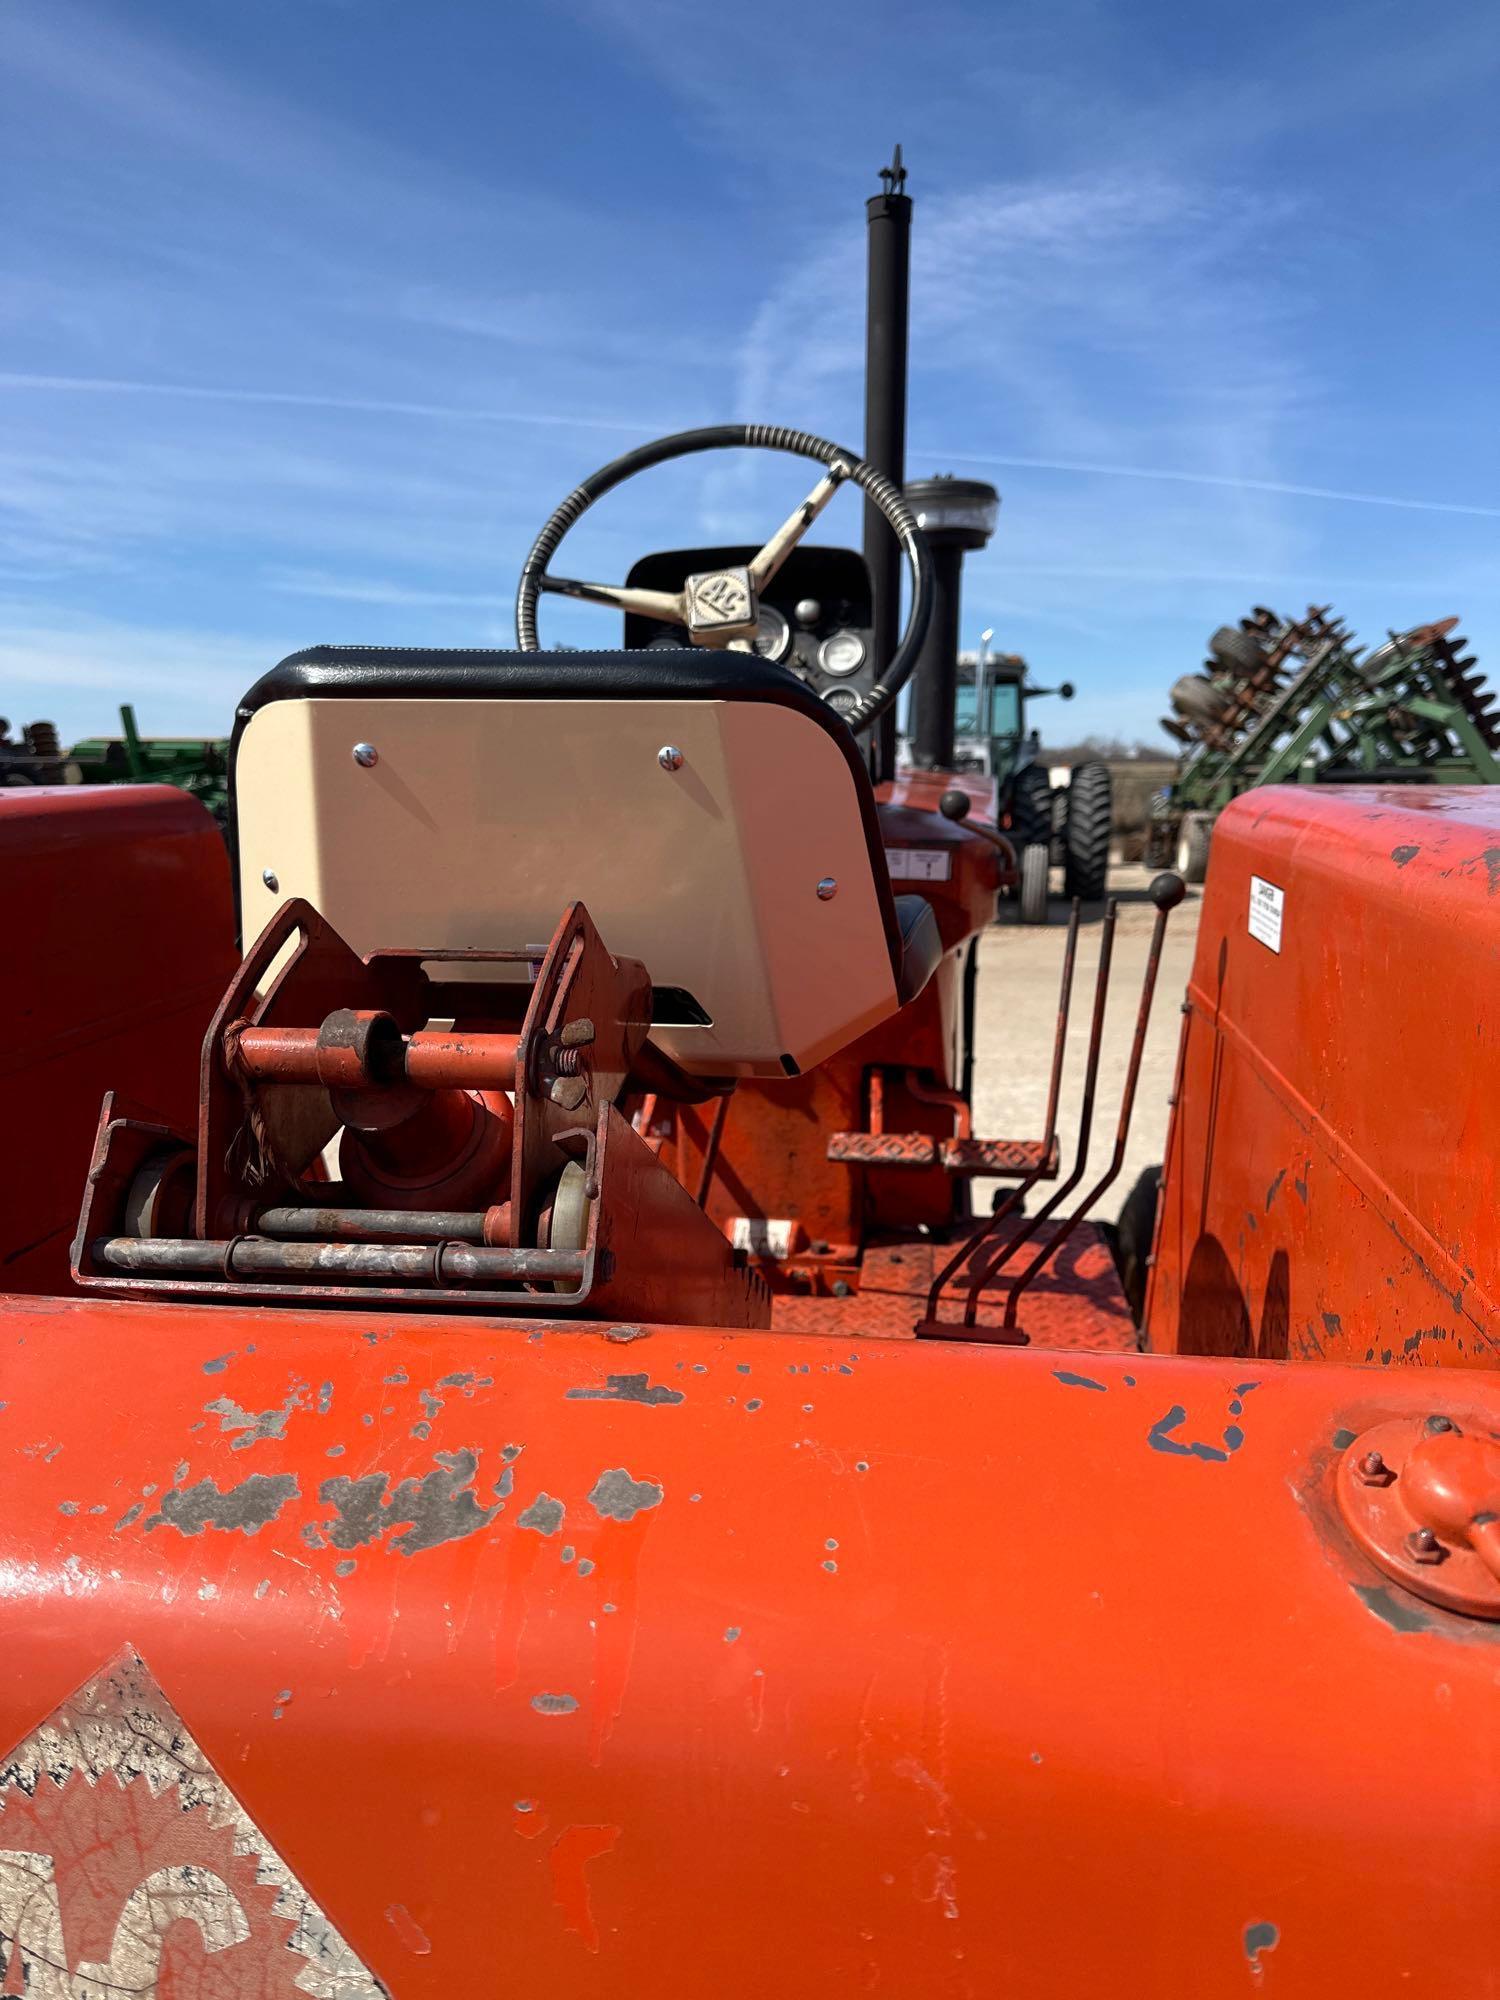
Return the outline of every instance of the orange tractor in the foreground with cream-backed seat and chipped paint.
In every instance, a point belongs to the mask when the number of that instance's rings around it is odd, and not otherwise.
[[[762,548],[552,572],[720,446],[820,468]],[[1074,914],[1044,1126],[976,1134],[1014,856],[870,776],[928,608],[896,480],[694,432],[514,652],[260,680],[232,868],[0,802],[0,1994],[1500,1988],[1500,818],[1224,812],[1136,1324],[1182,888],[1122,1102],[1106,912],[1062,1158]]]

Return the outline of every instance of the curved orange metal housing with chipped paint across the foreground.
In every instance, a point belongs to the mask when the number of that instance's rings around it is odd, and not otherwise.
[[[1500,1426],[1492,1378],[54,1298],[0,1346],[22,1970],[146,1936],[288,2000],[1492,1980],[1500,1626],[1334,1498],[1434,1396]]]

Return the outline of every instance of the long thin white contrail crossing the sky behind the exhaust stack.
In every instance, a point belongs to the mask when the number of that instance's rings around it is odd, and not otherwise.
[[[544,410],[476,410],[440,402],[386,402],[366,396],[312,396],[274,388],[204,388],[188,382],[126,382],[110,376],[42,376],[4,374],[0,390],[42,390],[80,396],[174,396],[190,402],[236,402],[280,406],[286,410],[344,410],[352,416],[412,416],[448,424],[538,424],[552,430],[610,430],[644,438],[648,422],[628,422],[616,416],[558,416]],[[666,428],[666,426],[662,426]],[[1336,486],[1294,486],[1286,480],[1252,480],[1218,472],[1174,472],[1162,466],[1106,466],[1080,458],[1016,458],[1004,452],[952,452],[946,446],[928,452],[912,446],[912,456],[932,456],[964,466],[1012,466],[1024,472],[1064,472],[1116,480],[1172,480],[1182,486],[1226,486],[1238,492],[1286,494],[1294,500],[1344,500],[1356,506],[1394,506],[1418,514],[1468,514],[1478,520],[1500,520],[1500,506],[1476,506],[1464,500],[1410,500],[1402,494],[1356,494]]]

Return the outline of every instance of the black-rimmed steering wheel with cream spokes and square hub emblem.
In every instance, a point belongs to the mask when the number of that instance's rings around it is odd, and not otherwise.
[[[812,488],[802,506],[776,530],[766,546],[748,564],[728,570],[704,570],[684,578],[682,590],[642,590],[632,584],[578,584],[564,576],[548,574],[548,562],[558,550],[564,534],[614,486],[622,486],[650,466],[662,466],[670,458],[688,458],[692,452],[724,452],[736,446],[752,446],[762,452],[792,452],[796,458],[812,458],[828,470]],[[608,604],[620,612],[636,612],[642,618],[656,618],[662,624],[686,626],[694,646],[748,644],[760,622],[758,596],[776,576],[790,552],[822,514],[844,480],[864,492],[890,522],[890,530],[902,546],[906,566],[912,572],[912,604],[906,614],[894,654],[884,672],[848,704],[848,694],[838,708],[850,728],[868,730],[872,722],[890,708],[916,666],[928,622],[932,618],[932,560],[916,516],[906,506],[900,488],[882,472],[846,452],[828,438],[814,438],[806,430],[784,430],[780,424],[710,424],[704,430],[680,430],[672,438],[656,438],[642,444],[624,458],[592,472],[582,486],[574,486],[568,498],[548,518],[532,544],[532,552],[522,564],[520,588],[516,590],[516,646],[522,652],[538,652],[536,600],[544,590],[564,598],[582,598],[584,604]],[[852,692],[852,690],[850,690]]]

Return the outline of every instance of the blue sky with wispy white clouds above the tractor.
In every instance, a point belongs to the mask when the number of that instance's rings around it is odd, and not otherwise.
[[[858,446],[892,140],[908,472],[1004,494],[968,640],[1132,736],[1254,602],[1460,612],[1500,678],[1498,70],[1464,0],[0,0],[0,710],[222,732],[312,640],[510,644],[630,442]],[[566,568],[806,484],[656,472]]]

